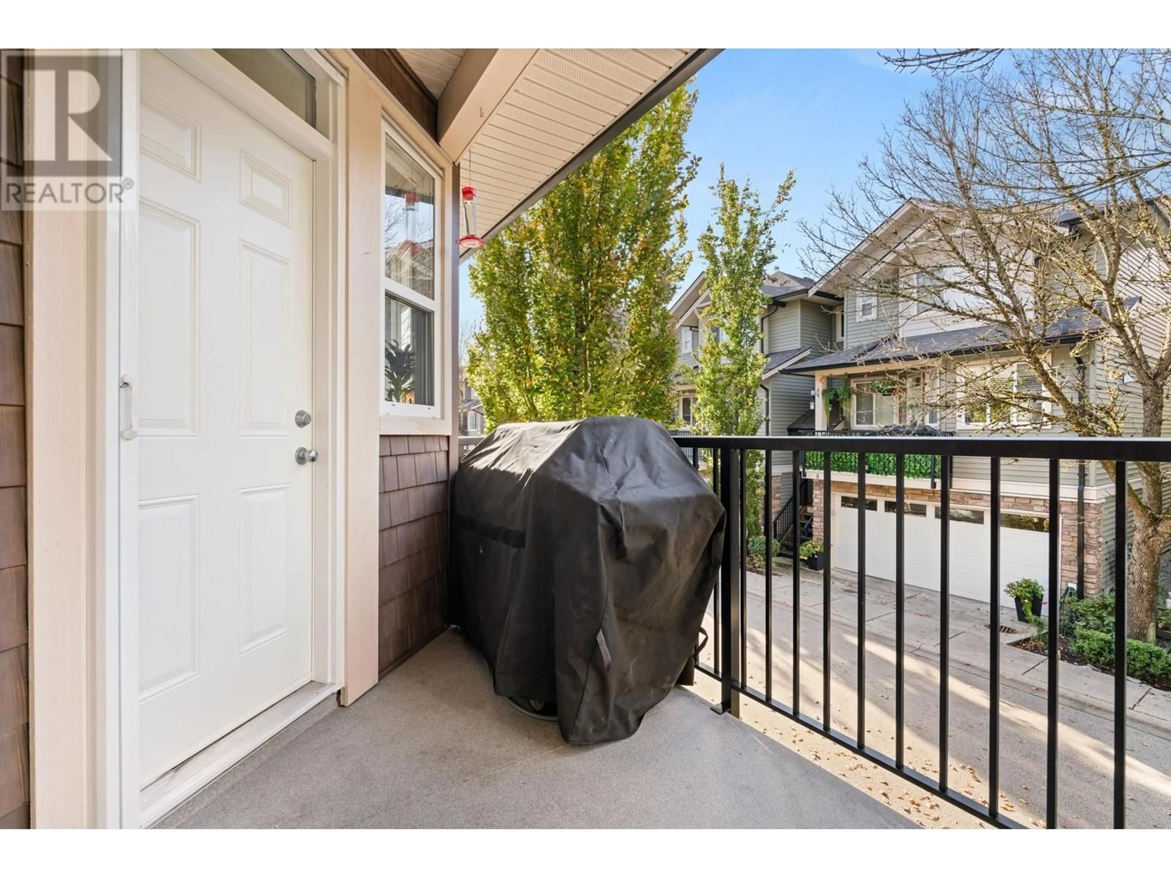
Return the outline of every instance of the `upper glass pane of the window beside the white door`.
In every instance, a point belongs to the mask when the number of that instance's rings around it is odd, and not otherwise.
[[[386,277],[434,299],[436,180],[390,137],[382,201]]]

